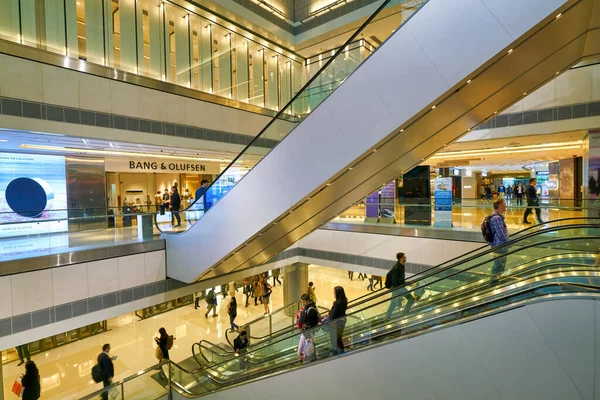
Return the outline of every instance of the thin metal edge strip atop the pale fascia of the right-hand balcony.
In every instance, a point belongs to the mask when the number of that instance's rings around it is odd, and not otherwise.
[[[429,228],[429,229],[427,229]],[[481,233],[476,231],[445,230],[433,227],[408,227],[404,225],[365,225],[344,222],[329,222],[323,225],[323,230],[344,231],[357,233],[372,233],[376,235],[408,236],[427,239],[458,240],[461,242],[485,243]]]

